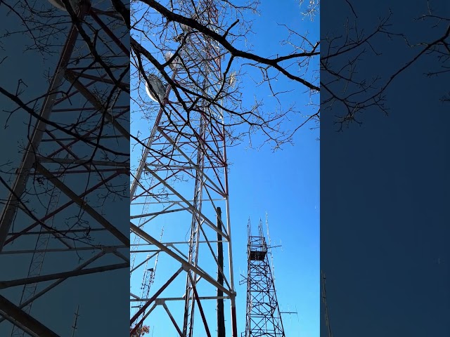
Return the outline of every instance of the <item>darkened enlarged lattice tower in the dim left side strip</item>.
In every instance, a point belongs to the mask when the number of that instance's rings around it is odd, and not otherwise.
[[[46,296],[129,268],[128,226],[104,209],[129,197],[128,29],[110,1],[49,3],[72,23],[0,214],[0,325],[13,337],[65,334],[51,322],[66,308]]]

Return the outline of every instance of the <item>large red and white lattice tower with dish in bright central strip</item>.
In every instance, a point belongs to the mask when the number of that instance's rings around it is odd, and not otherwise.
[[[191,6],[191,1],[185,2],[186,8]],[[217,22],[212,1],[199,1],[194,12],[205,25]],[[191,31],[180,52],[183,67],[173,70],[172,79],[214,97],[222,84],[219,49],[211,39]],[[216,329],[211,312],[216,303],[220,307],[221,300],[229,300],[231,334],[236,337],[224,114],[204,99],[188,113],[179,100],[169,98],[170,93],[168,86],[131,183],[130,306],[136,302],[143,306],[136,313],[131,310],[130,334],[143,324],[163,324],[152,320],[160,312],[181,337],[194,336],[194,323],[195,331],[211,336]],[[158,242],[155,237],[162,226],[165,240]],[[222,246],[228,268],[222,267]],[[150,298],[140,298],[134,284],[142,277],[148,251],[160,253],[158,275]],[[172,333],[169,326],[164,333]]]

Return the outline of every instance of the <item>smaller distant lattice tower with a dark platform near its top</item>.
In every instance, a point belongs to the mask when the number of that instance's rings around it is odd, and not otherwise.
[[[243,335],[245,337],[284,337],[274,275],[268,257],[270,246],[266,244],[262,220],[259,221],[257,236],[252,236],[250,220],[247,231],[247,314]]]

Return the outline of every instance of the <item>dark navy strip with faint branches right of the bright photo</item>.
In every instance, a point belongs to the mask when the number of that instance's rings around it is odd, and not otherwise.
[[[449,20],[321,1],[323,337],[449,336]]]

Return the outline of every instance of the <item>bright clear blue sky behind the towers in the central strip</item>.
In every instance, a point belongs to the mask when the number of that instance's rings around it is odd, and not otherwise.
[[[302,33],[309,31],[312,41],[319,39],[319,18],[312,23],[302,20],[297,1],[284,1],[283,4],[266,1],[259,9],[261,16],[253,17],[255,19],[253,31],[256,34],[248,37],[255,53],[270,56],[283,50],[280,41],[281,37],[286,36],[285,29],[277,24],[288,25]],[[246,70],[250,74],[255,74],[250,68]],[[245,81],[245,99],[250,101],[253,95],[257,94],[259,98],[264,98],[266,101],[264,109],[270,110],[275,107],[266,89],[256,88],[248,79],[242,80]],[[277,86],[295,89],[293,93],[283,97],[283,106],[295,102],[298,107],[303,107],[309,103],[309,96],[304,95],[304,88],[299,84],[280,79]],[[134,103],[131,105],[131,111],[136,111]],[[309,110],[302,111],[306,114]],[[293,123],[302,120],[300,117],[296,118]],[[139,121],[139,116],[136,114],[131,119],[133,121],[131,133],[136,134],[139,130],[144,135],[148,135],[148,129],[152,126],[148,121]],[[255,140],[262,139],[261,135],[255,137]],[[230,147],[228,150],[229,161],[232,163],[229,172],[230,212],[233,228],[234,272],[238,293],[238,333],[245,329],[246,289],[245,285],[239,286],[238,281],[239,273],[245,275],[247,268],[247,222],[250,217],[256,229],[259,218],[264,220],[267,211],[271,240],[274,244],[281,242],[283,245],[282,249],[274,250],[278,302],[282,311],[297,310],[298,312],[298,319],[295,315],[283,317],[286,336],[319,336],[320,205],[319,141],[316,140],[318,137],[319,130],[310,131],[309,128],[304,128],[295,136],[295,146],[287,145],[278,152],[272,152],[270,147],[263,147],[259,151],[245,150],[247,147],[245,143],[238,147]],[[138,147],[131,152],[131,166],[136,165],[140,153]],[[169,241],[169,238],[164,237],[163,241]],[[158,275],[162,278],[165,271],[167,268],[163,260],[160,260],[153,291],[158,288]],[[132,285],[140,286],[139,282]],[[183,290],[179,289],[178,295]],[[182,305],[182,303],[179,304]],[[227,336],[231,336],[228,324],[229,307],[225,308]],[[215,311],[208,315],[214,318]],[[154,326],[154,336],[166,331],[167,328],[162,323],[167,322],[165,312],[162,315],[155,312],[152,320],[153,322],[148,322],[148,325]],[[195,336],[202,336],[201,323],[199,323],[196,322],[198,332]]]

